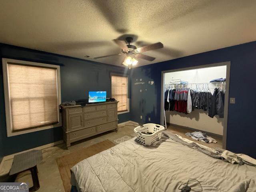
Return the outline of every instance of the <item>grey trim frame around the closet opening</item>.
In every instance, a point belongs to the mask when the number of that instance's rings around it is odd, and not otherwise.
[[[223,136],[222,136],[222,148],[226,149],[227,126],[228,126],[228,105],[229,105],[230,61],[162,71],[162,75],[161,75],[161,119],[160,119],[160,124],[164,126],[164,77],[165,77],[165,74],[170,73],[170,72],[178,72],[178,71],[184,71],[184,70],[201,69],[201,68],[217,67],[217,66],[226,66],[224,126],[223,126]]]

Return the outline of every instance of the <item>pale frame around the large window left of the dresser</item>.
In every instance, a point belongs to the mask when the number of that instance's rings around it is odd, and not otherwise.
[[[2,58],[2,65],[3,65],[3,77],[4,77],[4,100],[5,100],[5,116],[6,116],[6,129],[7,129],[7,137],[16,136],[20,134],[26,134],[30,132],[36,132],[40,130],[51,129],[54,127],[62,126],[62,118],[60,110],[58,110],[58,118],[59,123],[46,125],[38,128],[32,128],[27,130],[21,130],[17,132],[12,131],[12,115],[11,115],[11,105],[10,105],[10,91],[9,91],[9,77],[8,77],[8,63],[16,63],[22,65],[29,65],[29,66],[42,66],[42,67],[50,67],[56,68],[57,70],[57,89],[58,89],[58,106],[61,104],[61,94],[60,94],[60,66],[58,65],[51,65],[45,63],[37,63],[37,62],[30,62],[30,61],[23,61],[23,60],[15,60],[15,59],[8,59]]]

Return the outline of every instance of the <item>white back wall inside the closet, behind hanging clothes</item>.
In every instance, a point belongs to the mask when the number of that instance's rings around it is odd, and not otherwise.
[[[170,80],[181,79],[189,83],[205,83],[216,78],[226,78],[226,66],[200,68],[165,74],[164,84],[169,84]],[[213,93],[215,84],[209,85]],[[202,88],[202,86],[200,86]],[[196,88],[192,85],[192,88]],[[184,114],[176,111],[166,111],[166,122],[223,135],[224,118],[214,118],[208,116],[208,111],[195,109],[191,114]]]

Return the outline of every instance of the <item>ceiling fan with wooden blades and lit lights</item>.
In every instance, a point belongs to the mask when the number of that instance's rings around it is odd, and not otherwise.
[[[141,54],[142,52],[150,51],[150,50],[155,50],[155,49],[160,49],[163,48],[164,45],[161,42],[146,45],[140,48],[137,48],[134,45],[130,45],[132,42],[133,38],[132,37],[126,37],[125,38],[126,42],[128,42],[128,45],[124,40],[118,40],[114,39],[113,41],[122,48],[122,53],[126,54],[126,58],[124,59],[124,62],[122,63],[125,66],[129,66],[131,68],[131,65],[134,66],[138,63],[138,60],[135,58],[141,58],[144,60],[148,61],[154,61],[155,58],[151,56],[147,56],[144,54]],[[94,59],[99,59],[99,58],[104,58],[104,57],[110,57],[110,56],[115,56],[115,55],[122,55],[122,54],[112,54],[112,55],[106,55],[106,56],[100,56],[100,57],[94,57]]]

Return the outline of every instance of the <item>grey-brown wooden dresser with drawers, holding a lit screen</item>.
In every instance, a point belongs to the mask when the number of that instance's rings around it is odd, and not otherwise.
[[[117,101],[86,106],[63,106],[63,140],[67,148],[72,142],[109,130],[118,131]]]

